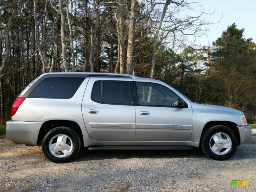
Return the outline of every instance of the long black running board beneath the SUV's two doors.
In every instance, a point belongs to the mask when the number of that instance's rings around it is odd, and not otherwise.
[[[88,147],[89,150],[193,150],[191,146],[153,146],[153,145],[98,145]]]

